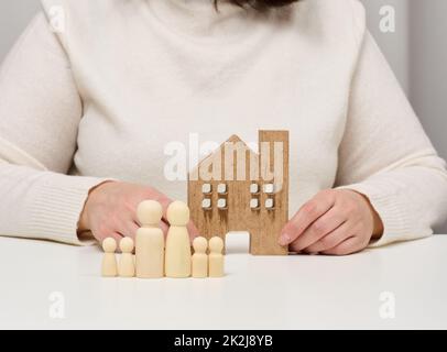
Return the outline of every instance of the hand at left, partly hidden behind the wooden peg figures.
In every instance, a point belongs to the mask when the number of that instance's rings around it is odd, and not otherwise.
[[[166,234],[168,226],[165,215],[172,200],[154,188],[121,182],[103,183],[90,191],[79,219],[78,232],[90,231],[99,242],[109,237],[117,241],[123,237],[134,238],[140,228],[137,208],[146,199],[162,205],[164,217],[160,226]],[[189,222],[188,230],[192,239],[198,235],[193,222]]]

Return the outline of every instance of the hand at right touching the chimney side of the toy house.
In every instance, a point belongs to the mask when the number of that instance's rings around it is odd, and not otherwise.
[[[293,252],[346,255],[363,250],[383,233],[368,198],[348,189],[323,190],[284,227],[280,243]]]

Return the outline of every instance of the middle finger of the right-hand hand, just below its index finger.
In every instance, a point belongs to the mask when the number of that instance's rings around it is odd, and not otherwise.
[[[339,209],[331,208],[325,215],[314,221],[293,243],[292,250],[299,252],[309,245],[318,242],[328,233],[339,228],[347,221],[347,217],[342,216]]]

